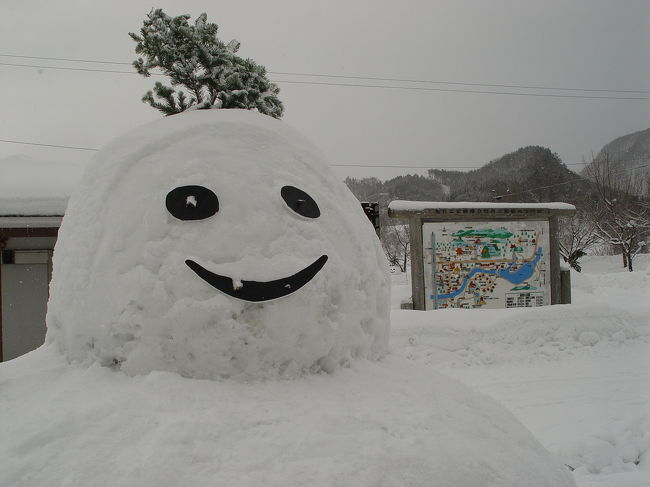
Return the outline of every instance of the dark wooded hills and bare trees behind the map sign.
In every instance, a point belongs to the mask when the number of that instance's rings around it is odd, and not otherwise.
[[[468,171],[430,169],[428,177],[346,179],[361,201],[380,203],[382,244],[391,264],[406,268],[408,232],[386,218],[392,200],[573,203],[577,213],[560,222],[560,253],[579,270],[579,259],[596,245],[623,255],[633,270],[634,257],[650,235],[650,129],[607,144],[583,175],[570,171],[557,154],[528,146]],[[645,172],[647,171],[647,172]]]

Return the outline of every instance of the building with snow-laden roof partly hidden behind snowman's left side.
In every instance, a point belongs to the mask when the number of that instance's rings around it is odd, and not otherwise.
[[[0,361],[40,346],[52,254],[83,165],[0,160]]]

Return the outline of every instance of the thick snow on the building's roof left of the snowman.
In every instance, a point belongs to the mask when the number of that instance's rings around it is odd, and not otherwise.
[[[0,159],[0,217],[63,215],[83,168],[24,155]]]

